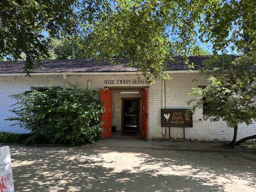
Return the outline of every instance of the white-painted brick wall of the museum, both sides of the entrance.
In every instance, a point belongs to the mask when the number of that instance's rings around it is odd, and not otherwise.
[[[198,79],[195,74],[187,73],[171,73],[173,79],[166,81],[166,108],[187,108],[186,101],[190,98],[188,93],[197,85],[206,85],[206,79]],[[103,84],[103,80],[117,79],[136,79],[137,75],[72,75],[67,78],[76,84],[79,88],[87,88],[91,84],[91,88],[99,91],[104,86],[124,86],[123,84]],[[91,83],[88,83],[90,81]],[[5,119],[12,116],[9,111],[10,106],[15,101],[9,97],[10,95],[29,90],[31,86],[67,85],[67,82],[61,75],[59,76],[33,76],[16,77],[0,76],[0,132],[27,132],[19,127],[10,127],[12,122]],[[129,84],[129,86],[139,86],[138,84]],[[97,97],[98,98],[98,97]],[[162,108],[162,81],[158,80],[156,84],[149,85],[149,138],[163,138],[163,130],[160,122],[160,109]],[[203,121],[202,111],[197,110],[193,116],[193,128],[186,128],[187,139],[198,140],[230,140],[233,130],[228,128],[225,122],[209,122]],[[182,138],[182,128],[171,128],[171,137]],[[167,133],[168,134],[168,133]],[[238,138],[256,134],[256,123],[246,126],[239,125]]]

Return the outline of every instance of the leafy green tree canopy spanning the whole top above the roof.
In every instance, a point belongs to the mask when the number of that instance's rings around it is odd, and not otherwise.
[[[87,51],[129,58],[153,81],[168,78],[166,60],[191,54],[197,41],[255,58],[255,8],[252,0],[3,0],[0,56],[24,53],[29,70],[49,56],[52,39],[92,33]]]

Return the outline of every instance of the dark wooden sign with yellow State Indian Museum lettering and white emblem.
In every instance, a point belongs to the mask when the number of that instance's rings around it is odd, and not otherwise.
[[[187,109],[161,109],[162,127],[193,127],[192,115],[186,116]]]

